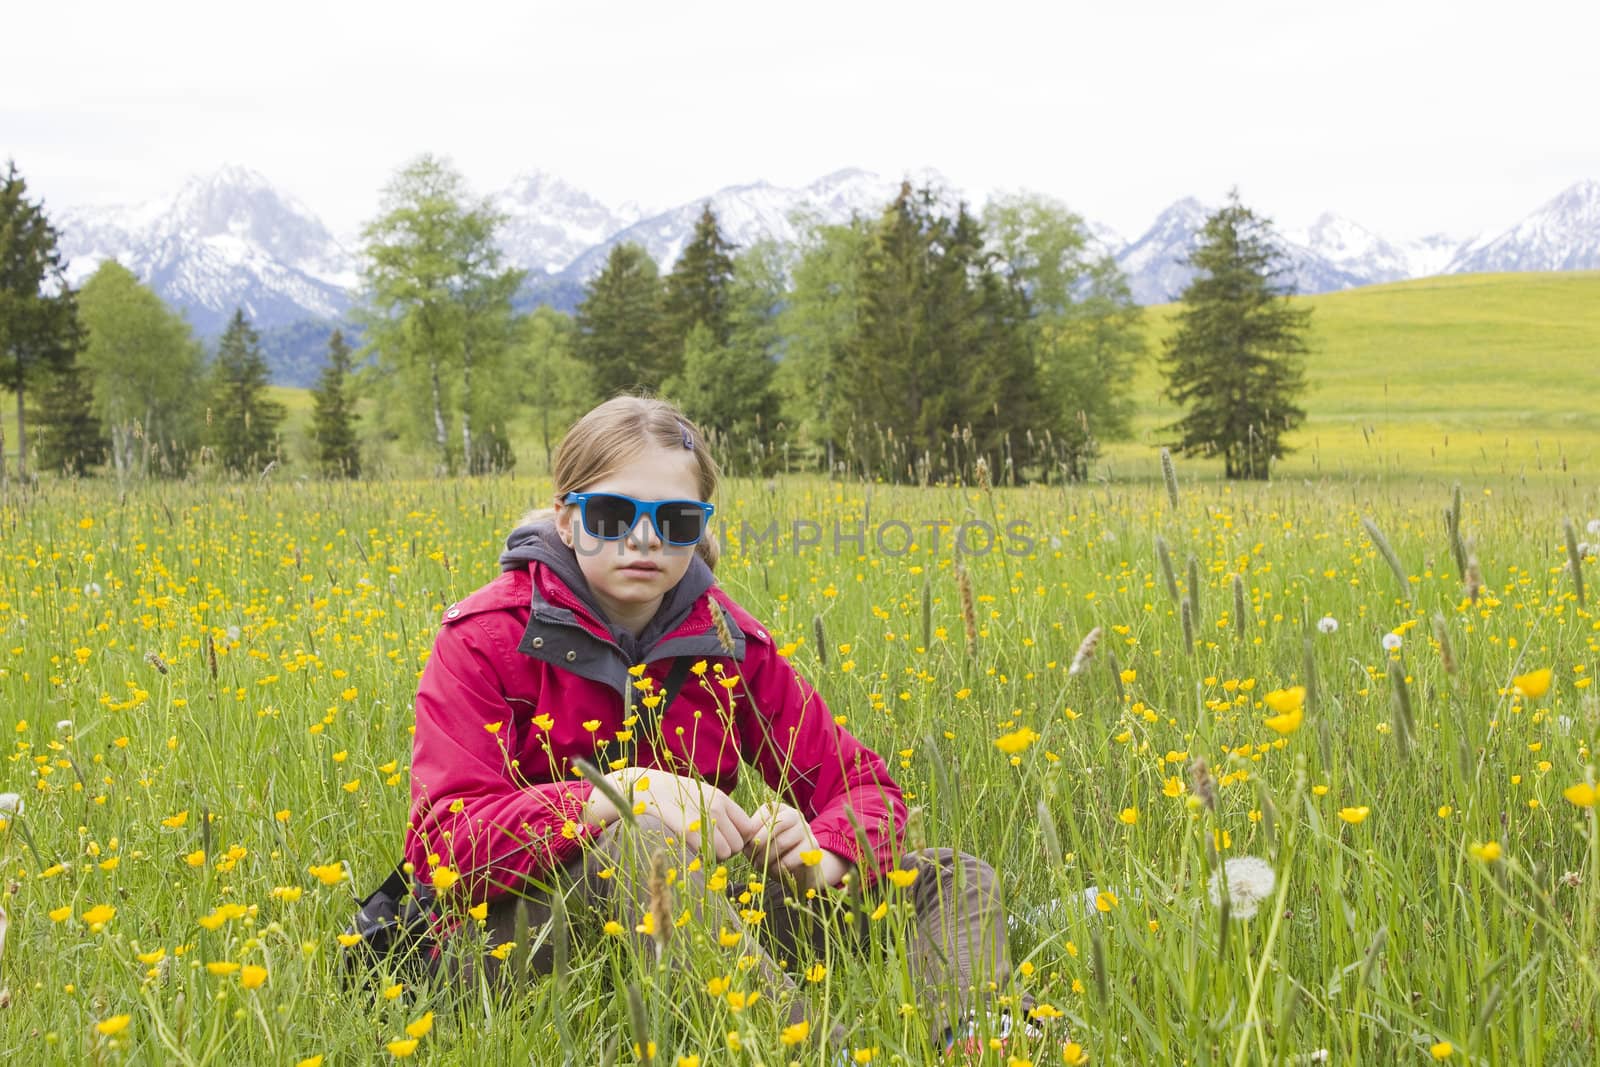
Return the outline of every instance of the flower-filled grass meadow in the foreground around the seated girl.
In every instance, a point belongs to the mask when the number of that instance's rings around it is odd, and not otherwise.
[[[1600,493],[1496,475],[1456,504],[1451,483],[1229,486],[1179,462],[1176,494],[723,488],[720,581],[890,758],[914,843],[1000,872],[1018,974],[995,995],[1026,987],[1059,1019],[984,1062],[1600,1056],[1600,579],[1565,536],[1571,518],[1600,542]],[[672,968],[574,926],[570,968],[509,1003],[341,985],[338,936],[398,854],[440,613],[546,493],[13,483],[0,1059],[946,1062],[909,1006],[893,891],[856,913],[864,953],[798,961],[802,1029],[693,925]],[[1026,541],[958,558],[949,530],[878,544],[888,520]],[[768,522],[816,522],[822,544],[739,544]],[[858,522],[866,544],[835,552]],[[1213,889],[1245,857],[1262,862]],[[845,1059],[819,1040],[835,1024]]]

